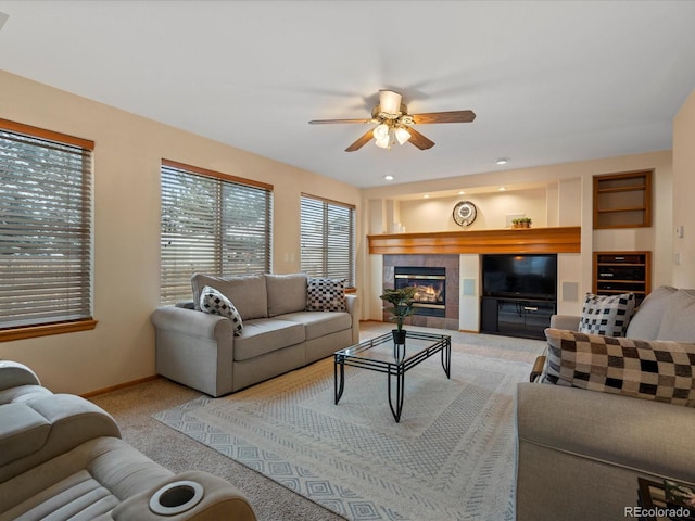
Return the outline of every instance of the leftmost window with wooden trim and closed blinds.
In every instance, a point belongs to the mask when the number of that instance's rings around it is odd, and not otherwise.
[[[0,340],[96,326],[93,148],[0,119]]]

